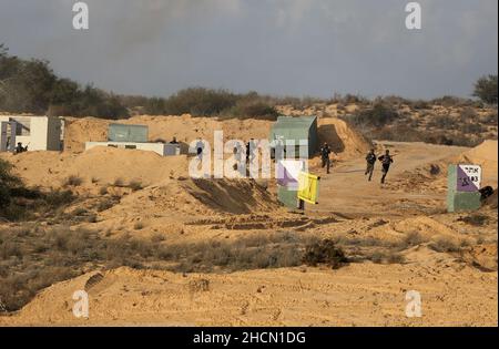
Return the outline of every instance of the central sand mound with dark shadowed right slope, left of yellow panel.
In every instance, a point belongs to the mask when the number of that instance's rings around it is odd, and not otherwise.
[[[122,198],[102,217],[122,223],[141,220],[187,222],[227,214],[281,209],[268,192],[249,179],[167,179]]]

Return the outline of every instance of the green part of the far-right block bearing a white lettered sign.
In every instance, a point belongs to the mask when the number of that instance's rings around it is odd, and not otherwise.
[[[458,185],[458,165],[449,165],[447,170],[447,211],[477,211],[481,207],[480,192],[462,192]]]

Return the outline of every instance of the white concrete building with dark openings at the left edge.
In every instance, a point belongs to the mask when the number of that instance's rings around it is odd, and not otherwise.
[[[12,122],[16,122],[13,124]],[[28,151],[61,151],[62,122],[58,116],[0,115],[0,124],[10,123],[1,133],[0,144],[22,143]],[[16,133],[10,129],[14,125]],[[2,129],[2,130],[3,130]],[[7,129],[9,131],[7,132]],[[16,135],[16,138],[12,137]]]

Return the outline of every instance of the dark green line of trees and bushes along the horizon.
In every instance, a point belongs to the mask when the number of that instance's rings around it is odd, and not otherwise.
[[[480,78],[475,84],[473,96],[480,103],[497,104],[497,75]],[[0,44],[0,111],[47,113],[53,115],[96,116],[103,119],[125,119],[131,114],[221,116],[240,119],[268,119],[277,116],[276,105],[306,109],[315,104],[370,105],[371,111],[357,115],[356,123],[380,126],[397,115],[384,105],[407,104],[414,109],[429,105],[469,105],[472,100],[444,96],[432,101],[411,101],[400,96],[378,97],[374,101],[359,95],[335,94],[330,99],[310,96],[276,97],[256,92],[233,93],[227,90],[205,88],[184,89],[169,97],[146,97],[142,95],[118,95],[92,85],[81,85],[75,81],[54,74],[48,61],[23,60],[10,55]]]

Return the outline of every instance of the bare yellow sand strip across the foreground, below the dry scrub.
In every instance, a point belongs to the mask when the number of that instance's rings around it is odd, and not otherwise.
[[[71,295],[89,275],[58,284],[3,325],[70,326],[490,326],[497,278],[465,267],[414,265],[189,275],[120,268],[90,291],[89,319]],[[435,277],[438,273],[438,277]],[[431,279],[431,281],[429,281]],[[201,281],[206,288],[200,289]],[[422,297],[421,318],[405,314],[406,292]],[[497,309],[497,308],[496,308]]]

